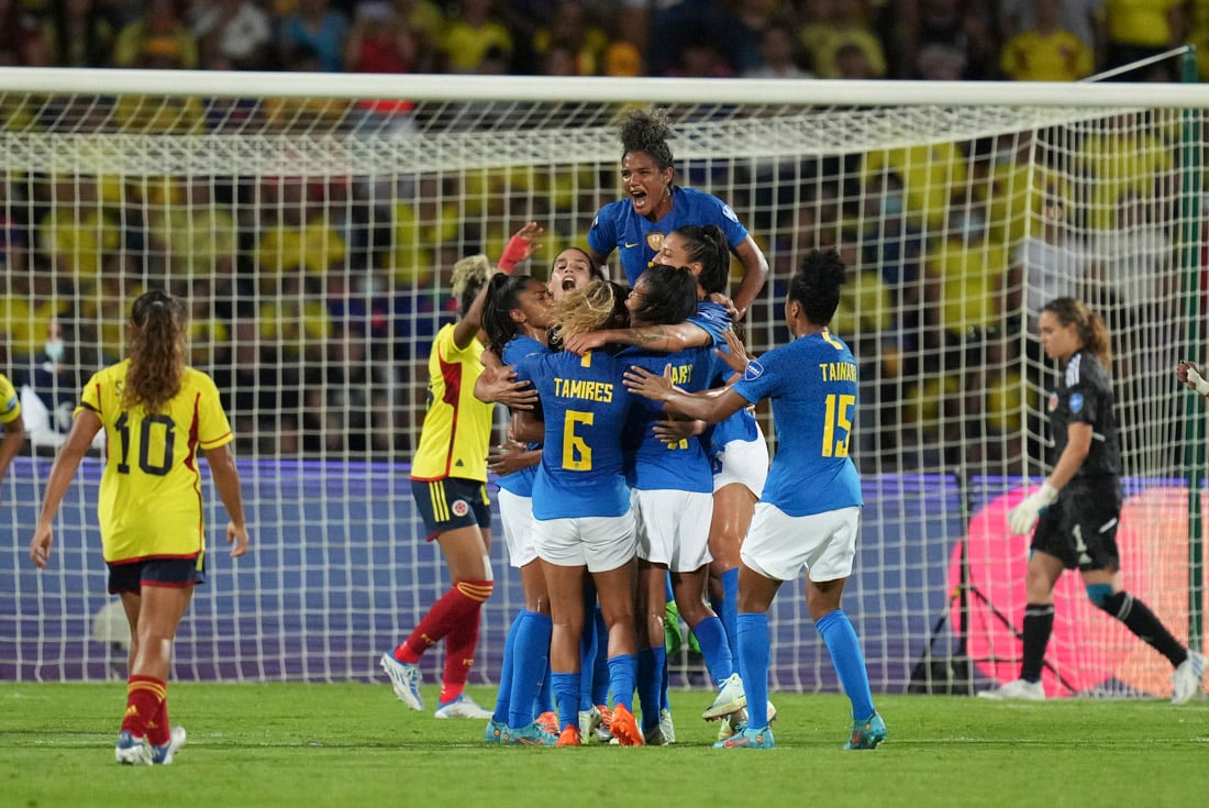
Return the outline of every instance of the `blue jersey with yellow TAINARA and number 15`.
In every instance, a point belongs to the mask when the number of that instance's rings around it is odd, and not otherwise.
[[[762,502],[791,516],[863,504],[849,457],[856,420],[856,359],[828,331],[799,337],[752,362],[735,382],[753,404],[773,403],[776,455]]]

